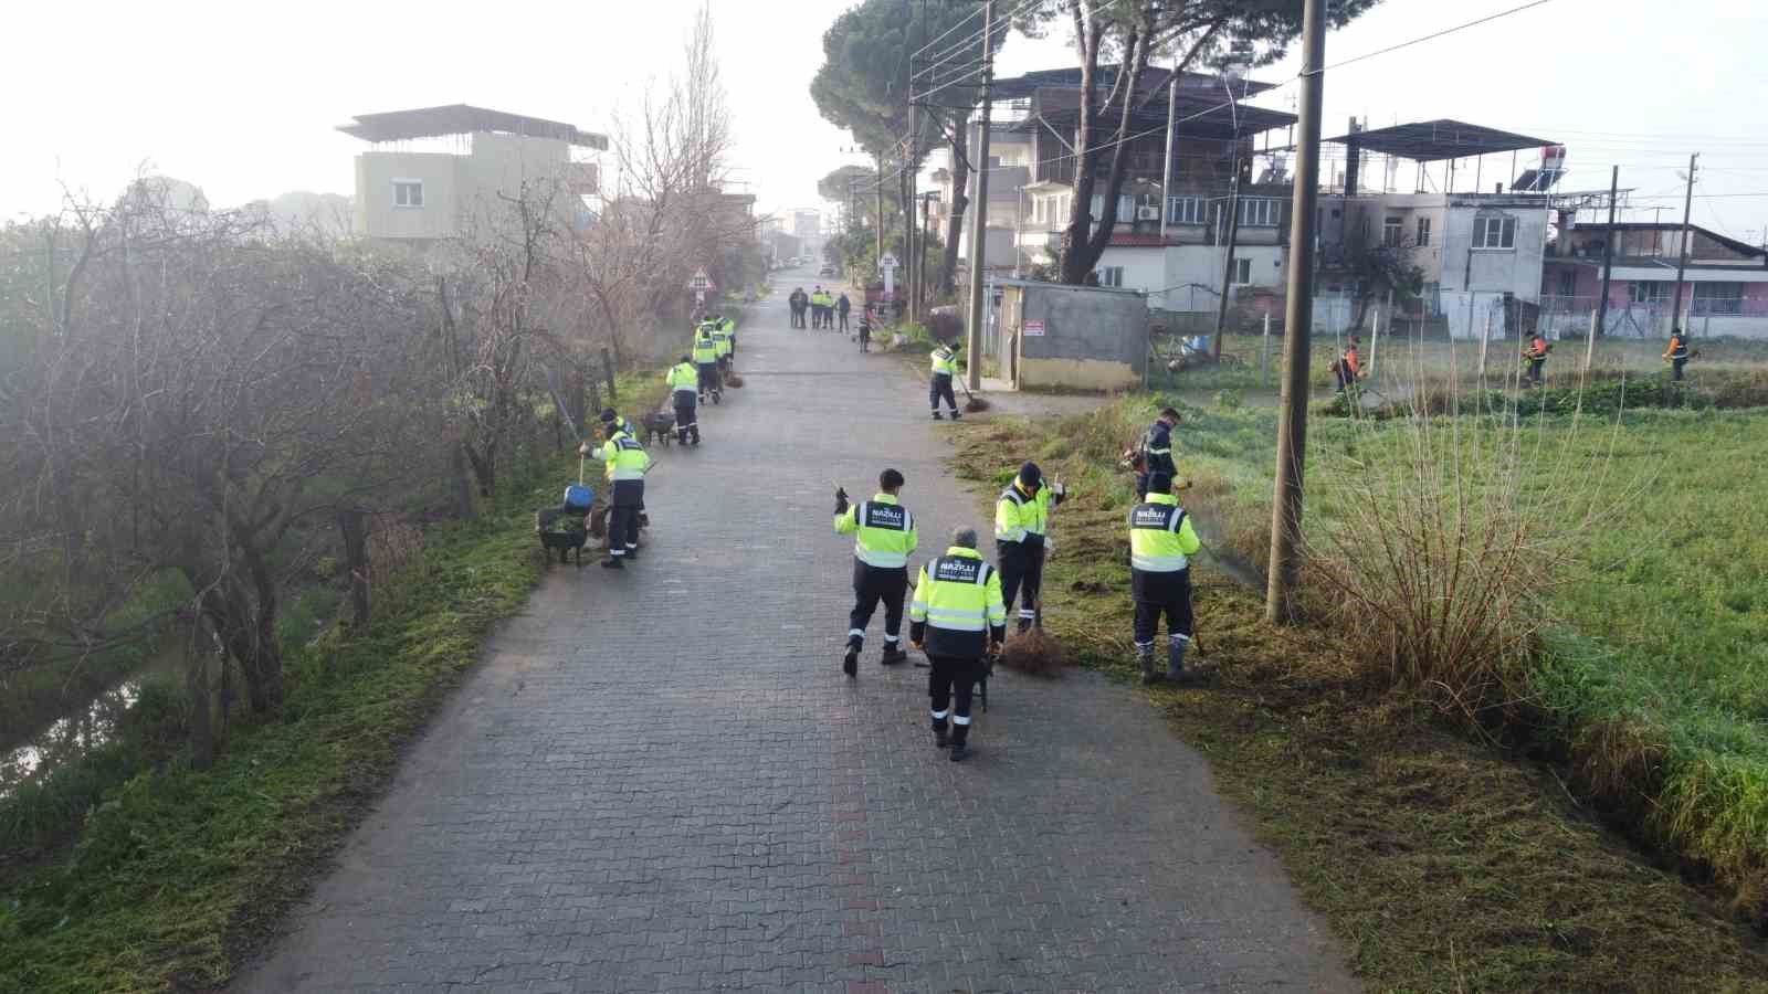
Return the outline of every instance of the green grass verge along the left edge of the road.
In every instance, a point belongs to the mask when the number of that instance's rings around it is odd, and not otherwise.
[[[511,488],[438,527],[408,607],[288,660],[278,720],[235,727],[207,771],[180,750],[106,792],[78,840],[0,877],[0,992],[209,989],[311,883],[490,626],[541,571]]]

